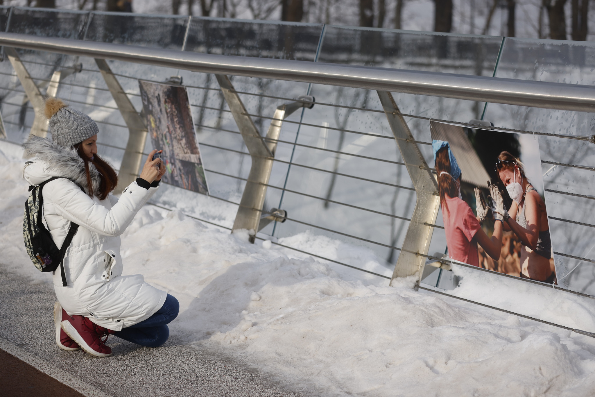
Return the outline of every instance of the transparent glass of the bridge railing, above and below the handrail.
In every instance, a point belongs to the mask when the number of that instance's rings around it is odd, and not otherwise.
[[[593,85],[595,80],[595,44],[588,42],[18,7],[0,7],[0,29],[208,54],[584,85]],[[102,131],[100,151],[118,167],[128,130],[95,62],[48,52],[19,50],[19,54],[42,92],[54,70],[74,70],[74,65],[82,65],[79,73],[62,79],[57,96],[98,121]],[[142,108],[138,79],[164,82],[170,76],[183,77],[211,193],[229,202],[239,202],[250,157],[215,77],[120,61],[109,61],[109,65],[137,110]],[[22,142],[32,125],[33,110],[10,62],[0,62],[0,76],[1,110],[8,140]],[[265,208],[283,208],[299,222],[271,223],[262,232],[286,237],[312,230],[316,235],[366,246],[381,264],[392,267],[398,251],[390,247],[398,248],[405,237],[408,221],[403,218],[411,217],[415,192],[406,189],[412,183],[405,167],[397,164],[400,154],[391,142],[393,136],[376,93],[239,76],[231,80],[261,133],[266,132],[278,105],[305,94],[314,95],[317,102],[312,110],[297,111],[283,124],[275,155],[278,161],[270,179],[274,187],[267,191]],[[595,115],[591,113],[404,93],[393,96],[400,110],[412,115],[405,118],[420,142],[431,142],[428,118],[461,122],[483,118],[496,126],[521,130],[594,133]],[[568,166],[595,164],[595,145],[556,137],[540,136],[538,140],[541,160],[546,161],[542,168],[549,215],[563,219],[550,220],[552,240],[557,242],[555,250],[595,258],[595,200],[588,197],[593,196],[595,173]],[[421,143],[419,148],[428,164],[433,165],[431,146]],[[150,149],[147,143],[146,151]],[[237,206],[221,201],[220,210],[211,205],[206,213],[201,207],[206,199],[171,186],[160,189],[156,197],[163,205],[231,227],[235,211],[230,209]],[[438,219],[441,224],[441,216]],[[582,224],[567,220],[580,220]],[[337,233],[340,231],[348,232]],[[308,238],[300,236],[295,238]],[[436,230],[430,252],[444,252],[445,247],[444,232]],[[313,254],[315,249],[312,248]],[[337,260],[349,261],[342,255],[342,249],[337,247]],[[561,255],[556,255],[555,260],[563,270],[558,274],[560,285],[595,295],[593,263]]]

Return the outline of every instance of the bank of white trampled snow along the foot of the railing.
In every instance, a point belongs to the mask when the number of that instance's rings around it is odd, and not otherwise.
[[[0,149],[3,261],[32,283],[49,283],[23,248],[23,160],[15,146],[0,143]],[[389,287],[380,277],[275,245],[252,245],[245,237],[147,205],[123,235],[125,272],[142,273],[179,298],[174,335],[242,358],[301,390],[367,396],[595,393],[595,339],[415,292],[412,280]],[[301,233],[280,242],[390,273],[369,251],[328,237]],[[456,295],[595,331],[592,299],[464,268],[456,273],[462,277]]]

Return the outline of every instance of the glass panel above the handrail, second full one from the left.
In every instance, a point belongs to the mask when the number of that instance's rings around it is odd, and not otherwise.
[[[93,12],[86,40],[181,49],[188,17]]]

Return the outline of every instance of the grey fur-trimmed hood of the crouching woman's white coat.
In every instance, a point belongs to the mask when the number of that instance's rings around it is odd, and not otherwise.
[[[84,170],[84,160],[74,149],[67,149],[51,139],[32,135],[21,145],[26,157],[33,157],[33,162],[25,165],[23,176],[32,185],[39,185],[51,177],[66,177],[89,192],[87,175]],[[99,195],[101,177],[92,162],[89,162],[89,174],[93,184],[93,193]]]

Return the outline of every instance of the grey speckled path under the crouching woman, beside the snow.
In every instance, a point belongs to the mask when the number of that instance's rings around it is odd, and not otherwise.
[[[61,351],[54,339],[54,302],[51,285],[32,284],[0,263],[0,337],[114,397],[304,396],[223,353],[184,345],[175,336],[156,349],[111,336],[114,355],[108,358]]]

